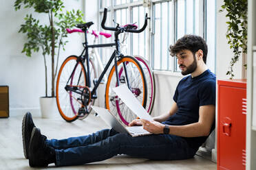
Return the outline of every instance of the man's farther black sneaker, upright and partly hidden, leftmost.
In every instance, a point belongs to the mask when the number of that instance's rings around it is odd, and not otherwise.
[[[26,159],[29,158],[28,147],[30,146],[30,136],[33,128],[35,127],[32,115],[27,112],[22,121],[22,141],[23,141],[23,152]]]

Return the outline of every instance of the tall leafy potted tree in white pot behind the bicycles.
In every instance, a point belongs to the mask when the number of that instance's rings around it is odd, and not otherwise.
[[[31,57],[32,52],[41,52],[43,54],[45,65],[45,97],[41,97],[40,101],[49,103],[56,107],[55,99],[55,77],[58,68],[58,57],[60,50],[65,50],[65,45],[68,42],[66,28],[74,27],[78,23],[83,23],[83,14],[81,10],[72,10],[63,12],[62,0],[16,0],[14,3],[15,10],[23,8],[34,8],[35,12],[45,14],[49,19],[49,24],[41,24],[39,19],[35,19],[32,14],[25,16],[25,23],[21,25],[19,32],[27,36],[27,42],[23,46],[22,53]],[[48,95],[47,87],[47,57],[51,59],[51,93]],[[56,62],[56,63],[55,63]],[[43,106],[41,103],[41,112],[46,111],[46,114],[51,113],[48,109],[50,106]]]

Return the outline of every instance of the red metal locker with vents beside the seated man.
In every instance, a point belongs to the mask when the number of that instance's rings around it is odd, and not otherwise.
[[[217,86],[217,169],[245,169],[246,80],[218,80]]]

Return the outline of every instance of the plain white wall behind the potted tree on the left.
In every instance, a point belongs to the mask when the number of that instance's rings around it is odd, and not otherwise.
[[[66,0],[67,10],[80,9],[84,11],[82,0]],[[33,53],[31,58],[21,53],[25,43],[25,35],[18,33],[24,23],[25,14],[32,13],[39,17],[42,23],[47,23],[47,16],[36,14],[33,10],[14,10],[14,0],[0,1],[0,85],[9,86],[10,116],[23,114],[30,110],[32,114],[40,115],[39,97],[45,95],[45,70],[41,52]],[[66,56],[81,51],[83,36],[72,34],[66,51],[61,52],[59,65]],[[80,53],[80,52],[79,52]],[[50,56],[47,57],[48,82],[50,86]],[[50,94],[50,88],[48,89]]]

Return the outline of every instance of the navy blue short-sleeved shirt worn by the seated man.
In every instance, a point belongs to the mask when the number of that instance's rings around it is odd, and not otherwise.
[[[197,77],[191,75],[180,80],[173,100],[178,106],[178,111],[167,121],[168,125],[187,125],[198,122],[199,108],[205,105],[215,105],[216,77],[208,69]],[[215,128],[215,123],[211,131]],[[206,141],[207,136],[185,138],[189,145],[198,148]]]

